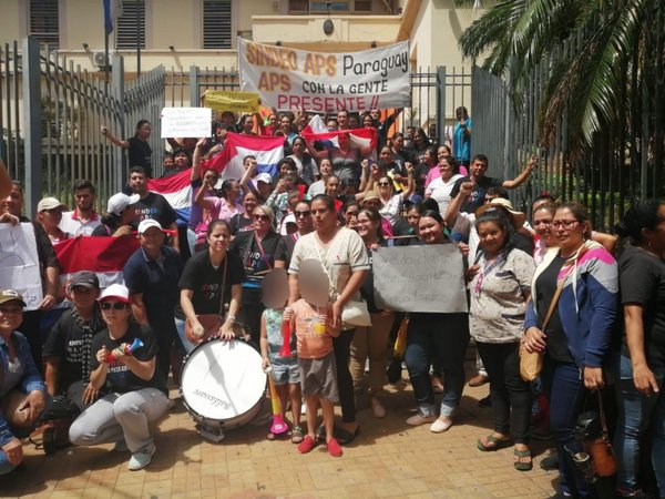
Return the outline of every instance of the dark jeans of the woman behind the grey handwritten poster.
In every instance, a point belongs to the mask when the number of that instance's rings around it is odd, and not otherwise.
[[[430,364],[443,370],[441,416],[452,416],[464,388],[464,355],[469,345],[468,314],[413,314],[407,333],[405,361],[418,411],[436,416]]]

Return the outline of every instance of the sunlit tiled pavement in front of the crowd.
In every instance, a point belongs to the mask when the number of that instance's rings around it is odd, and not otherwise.
[[[471,364],[469,364],[471,369]],[[468,373],[472,375],[471,370]],[[405,373],[406,376],[406,373]],[[481,452],[478,437],[491,428],[491,409],[478,407],[488,386],[464,388],[452,428],[409,427],[411,388],[388,387],[388,415],[376,419],[358,403],[360,435],[341,458],[325,446],[299,455],[290,441],[267,441],[266,426],[228,431],[221,444],[203,440],[182,404],[156,431],[157,452],[142,471],[129,471],[129,454],[111,445],[68,448],[44,456],[25,444],[27,467],[0,477],[0,497],[40,498],[546,498],[556,473],[538,464],[548,442],[533,442],[534,468],[513,468],[512,449]],[[172,390],[172,397],[176,395]],[[265,405],[266,410],[269,404]],[[551,444],[551,442],[550,442]]]

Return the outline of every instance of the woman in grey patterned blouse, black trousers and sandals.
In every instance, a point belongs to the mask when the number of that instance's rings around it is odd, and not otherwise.
[[[472,277],[471,336],[490,378],[494,431],[478,440],[483,451],[508,446],[514,437],[515,469],[532,467],[529,450],[531,388],[520,375],[520,339],[535,264],[511,240],[512,222],[497,206],[477,212],[480,251]]]

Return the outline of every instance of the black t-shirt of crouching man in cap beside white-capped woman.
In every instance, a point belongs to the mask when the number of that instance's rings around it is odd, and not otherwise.
[[[96,313],[88,323],[92,338],[106,327],[101,313]],[[58,389],[65,393],[76,381],[83,380],[83,354],[85,352],[84,335],[81,326],[74,320],[72,310],[65,310],[51,328],[43,346],[43,357],[58,357]],[[91,350],[92,347],[91,347]],[[94,350],[96,352],[96,350]]]

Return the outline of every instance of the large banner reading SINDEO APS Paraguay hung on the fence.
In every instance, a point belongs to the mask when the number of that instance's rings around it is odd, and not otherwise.
[[[347,53],[306,52],[238,38],[241,89],[278,110],[403,108],[411,101],[409,42]]]

